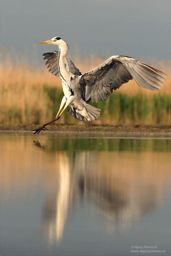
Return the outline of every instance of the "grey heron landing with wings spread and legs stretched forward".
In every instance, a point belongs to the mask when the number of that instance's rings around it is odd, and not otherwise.
[[[134,79],[149,90],[158,90],[166,81],[166,74],[128,56],[115,55],[105,60],[93,70],[81,74],[66,55],[67,43],[60,37],[40,42],[57,45],[59,51],[44,53],[47,68],[52,75],[60,76],[64,96],[56,117],[34,130],[34,134],[47,130],[45,126],[57,121],[67,107],[67,113],[79,120],[93,121],[100,116],[100,109],[88,104],[89,101],[105,101],[113,90]]]

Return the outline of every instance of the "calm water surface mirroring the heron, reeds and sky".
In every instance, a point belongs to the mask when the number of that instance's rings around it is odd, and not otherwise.
[[[1,256],[170,255],[169,138],[1,133],[0,145]]]

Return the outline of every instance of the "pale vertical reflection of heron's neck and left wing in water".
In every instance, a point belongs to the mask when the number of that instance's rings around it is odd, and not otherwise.
[[[63,230],[67,213],[69,211],[69,203],[72,197],[70,188],[71,173],[69,169],[69,159],[65,154],[59,157],[59,173],[57,191],[51,198],[48,197],[44,205],[43,218],[49,223],[49,239],[60,241],[63,236]],[[49,204],[51,208],[49,209]],[[50,216],[49,216],[50,213]],[[47,219],[48,217],[48,219]],[[50,217],[50,219],[49,219]]]

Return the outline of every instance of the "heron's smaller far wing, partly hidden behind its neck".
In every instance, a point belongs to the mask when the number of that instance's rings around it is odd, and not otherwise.
[[[44,53],[43,56],[43,59],[47,60],[45,65],[47,65],[47,68],[49,68],[49,72],[58,77],[60,75],[58,70],[58,51]],[[67,71],[73,73],[75,76],[81,75],[81,72],[75,67],[74,63],[68,56],[65,56],[65,67]]]

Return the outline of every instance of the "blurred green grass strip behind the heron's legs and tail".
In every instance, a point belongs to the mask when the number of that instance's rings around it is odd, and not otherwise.
[[[44,86],[44,92],[52,101],[47,106],[51,116],[56,116],[63,96],[62,90]],[[151,124],[169,125],[171,100],[169,95],[146,95],[144,93],[133,96],[120,92],[113,92],[107,101],[89,104],[101,109],[100,122],[103,124]],[[69,114],[63,116],[63,123],[74,123]]]

